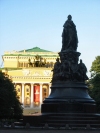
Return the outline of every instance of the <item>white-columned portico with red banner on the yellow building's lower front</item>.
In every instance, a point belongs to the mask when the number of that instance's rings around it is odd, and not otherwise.
[[[35,112],[41,112],[41,104],[43,100],[48,97],[51,92],[50,83],[15,83],[16,91],[20,89],[20,99],[22,107],[24,108],[24,114],[32,114]],[[26,98],[29,97],[30,102],[26,102]],[[36,100],[37,97],[37,100]]]

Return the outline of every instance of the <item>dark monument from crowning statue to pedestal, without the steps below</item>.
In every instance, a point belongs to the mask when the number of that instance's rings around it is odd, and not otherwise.
[[[87,68],[77,52],[78,37],[72,16],[63,25],[62,48],[54,65],[51,94],[43,101],[42,113],[94,113],[95,101],[88,94]]]

